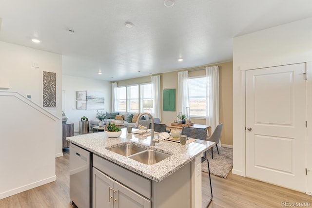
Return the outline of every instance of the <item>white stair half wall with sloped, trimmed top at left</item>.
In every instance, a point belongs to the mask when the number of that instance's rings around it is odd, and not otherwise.
[[[0,115],[0,199],[55,181],[59,118],[7,91],[0,91]]]

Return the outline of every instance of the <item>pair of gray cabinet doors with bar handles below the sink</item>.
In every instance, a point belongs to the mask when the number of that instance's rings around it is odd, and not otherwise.
[[[93,208],[151,208],[151,201],[93,168]]]

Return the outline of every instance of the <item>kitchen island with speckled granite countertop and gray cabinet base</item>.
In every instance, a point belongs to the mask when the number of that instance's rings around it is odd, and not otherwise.
[[[106,207],[123,207],[125,202],[127,207],[201,208],[201,156],[214,142],[195,140],[180,145],[160,140],[155,146],[149,146],[150,136],[137,136],[127,133],[126,129],[122,129],[117,138],[98,132],[67,137],[67,140],[93,155],[91,195],[94,208],[103,203],[107,203]],[[169,157],[147,165],[109,150],[125,144],[163,152]],[[107,178],[110,181],[105,182]],[[123,194],[123,191],[128,192]],[[100,198],[103,194],[108,197]],[[130,206],[130,199],[139,201],[136,203],[140,206]]]

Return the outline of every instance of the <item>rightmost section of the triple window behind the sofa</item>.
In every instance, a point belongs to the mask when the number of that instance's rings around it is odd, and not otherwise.
[[[152,96],[152,84],[141,84],[140,85],[141,91],[141,111],[140,112],[148,112],[153,113],[153,96]]]

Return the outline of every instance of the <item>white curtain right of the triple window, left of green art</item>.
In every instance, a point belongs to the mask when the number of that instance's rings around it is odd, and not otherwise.
[[[152,96],[153,96],[153,108],[154,118],[161,119],[161,113],[160,113],[160,76],[152,76]]]

